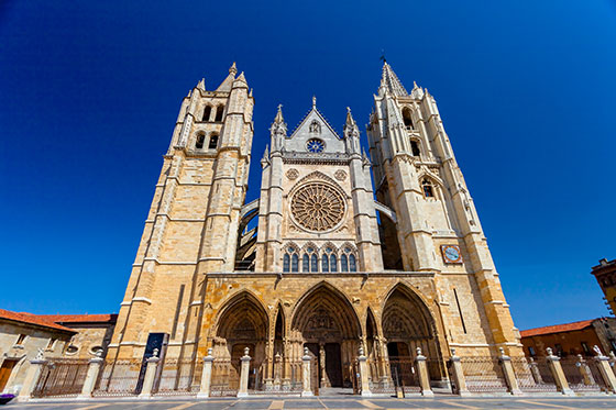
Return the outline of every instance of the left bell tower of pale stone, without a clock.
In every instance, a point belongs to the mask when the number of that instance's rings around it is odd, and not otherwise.
[[[111,357],[189,356],[206,277],[232,272],[253,136],[254,100],[235,64],[216,90],[182,101],[110,345]],[[153,342],[152,335],[162,335]]]

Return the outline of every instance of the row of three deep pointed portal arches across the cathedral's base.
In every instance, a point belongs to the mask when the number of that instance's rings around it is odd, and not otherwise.
[[[242,290],[222,304],[209,341],[215,357],[233,366],[250,348],[253,387],[284,386],[300,378],[305,347],[321,388],[352,386],[360,346],[369,357],[373,384],[391,385],[391,359],[411,359],[417,347],[442,364],[438,328],[424,300],[404,284],[384,295],[383,303],[380,300],[360,314],[342,291],[321,281],[295,303],[278,301],[267,310]],[[431,366],[429,373],[436,384],[447,380],[442,365]]]

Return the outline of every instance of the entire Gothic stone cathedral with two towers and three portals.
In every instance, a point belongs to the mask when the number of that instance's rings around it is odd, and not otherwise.
[[[183,99],[108,359],[211,348],[239,362],[248,347],[253,381],[267,385],[290,379],[307,348],[320,386],[345,387],[360,350],[386,363],[419,347],[435,385],[452,350],[522,354],[428,90],[407,91],[385,63],[367,141],[349,109],[339,133],[315,98],[293,131],[278,107],[249,201],[253,108],[234,64]]]

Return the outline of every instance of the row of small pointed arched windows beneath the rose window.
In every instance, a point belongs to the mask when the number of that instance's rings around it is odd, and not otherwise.
[[[284,247],[283,272],[358,272],[358,256],[355,248],[349,244],[337,248],[333,244],[326,244],[320,250],[308,244],[299,250],[295,244]]]

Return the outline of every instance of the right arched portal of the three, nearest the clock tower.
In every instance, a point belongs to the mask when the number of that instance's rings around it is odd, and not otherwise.
[[[391,359],[414,358],[417,347],[420,347],[422,355],[435,363],[429,366],[430,378],[442,379],[444,375],[438,365],[440,350],[435,319],[426,303],[413,290],[404,285],[392,289],[383,308],[382,326]]]

